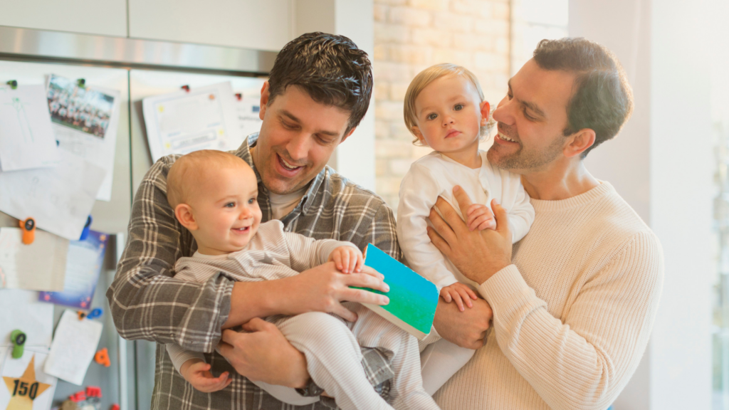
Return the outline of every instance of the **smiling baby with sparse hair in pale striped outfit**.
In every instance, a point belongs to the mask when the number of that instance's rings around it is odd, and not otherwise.
[[[167,190],[175,217],[198,244],[192,258],[175,263],[177,279],[202,283],[224,274],[236,281],[274,280],[327,261],[334,261],[345,274],[362,271],[362,252],[350,242],[317,241],[286,232],[278,220],[260,223],[256,175],[235,155],[212,150],[184,155],[169,171]],[[321,312],[266,320],[303,352],[313,381],[342,409],[439,409],[423,389],[418,341],[359,303],[346,306],[359,317],[356,322],[346,324]],[[360,344],[392,352],[392,407],[367,381]],[[227,374],[211,374],[202,354],[174,344],[168,344],[167,351],[177,371],[196,389],[214,392],[230,384]],[[285,403],[319,400],[288,387],[254,383]]]

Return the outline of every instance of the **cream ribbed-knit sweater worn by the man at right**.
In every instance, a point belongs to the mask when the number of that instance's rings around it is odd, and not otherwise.
[[[656,236],[607,182],[531,204],[514,264],[479,288],[494,310],[486,345],[434,395],[445,410],[605,410],[643,355],[663,285]]]

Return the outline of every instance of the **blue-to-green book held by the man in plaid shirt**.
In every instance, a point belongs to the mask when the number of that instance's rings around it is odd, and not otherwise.
[[[399,263],[373,244],[367,244],[367,249],[364,250],[364,265],[385,275],[385,283],[390,286],[388,293],[367,289],[390,298],[388,305],[363,303],[364,306],[418,340],[423,340],[430,333],[435,308],[438,306],[438,289],[434,283],[416,274],[408,266]]]

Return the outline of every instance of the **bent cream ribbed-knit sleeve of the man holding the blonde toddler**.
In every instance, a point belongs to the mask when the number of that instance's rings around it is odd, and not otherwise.
[[[663,286],[663,255],[652,233],[636,233],[565,306],[547,312],[514,265],[479,292],[494,311],[504,355],[552,409],[607,409],[647,346]]]

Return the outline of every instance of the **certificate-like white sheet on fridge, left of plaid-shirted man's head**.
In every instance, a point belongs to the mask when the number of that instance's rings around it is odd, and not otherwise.
[[[231,150],[232,142],[241,140],[233,99],[230,82],[144,98],[152,160],[197,150]]]

